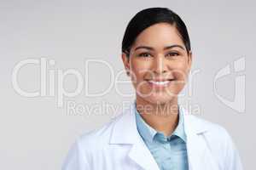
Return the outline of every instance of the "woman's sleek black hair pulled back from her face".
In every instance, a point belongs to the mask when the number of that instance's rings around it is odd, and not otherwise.
[[[183,20],[169,8],[145,8],[138,12],[129,22],[122,42],[122,52],[129,56],[131,45],[137,36],[149,26],[166,22],[175,26],[183,40],[187,52],[190,51],[190,40]]]

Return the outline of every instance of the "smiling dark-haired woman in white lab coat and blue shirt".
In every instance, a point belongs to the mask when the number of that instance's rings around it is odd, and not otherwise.
[[[177,104],[192,52],[183,20],[168,8],[146,8],[125,30],[122,59],[135,102],[86,133],[63,170],[241,170],[229,133]]]

